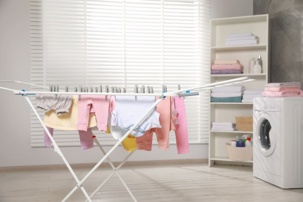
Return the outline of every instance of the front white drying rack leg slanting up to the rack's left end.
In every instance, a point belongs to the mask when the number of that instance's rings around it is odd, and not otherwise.
[[[78,177],[76,176],[75,172],[73,171],[72,167],[69,165],[68,161],[66,160],[66,158],[64,157],[64,155],[62,154],[61,150],[59,149],[57,143],[55,142],[55,140],[53,139],[52,135],[50,134],[50,132],[48,131],[47,127],[45,126],[44,122],[42,121],[42,119],[40,118],[37,110],[35,109],[34,105],[32,104],[32,102],[30,101],[30,99],[28,98],[27,94],[24,94],[23,95],[25,100],[28,102],[28,104],[30,105],[30,107],[32,108],[32,110],[34,111],[36,117],[38,118],[39,122],[41,123],[42,127],[44,128],[44,130],[46,131],[48,137],[50,138],[50,140],[52,141],[53,143],[53,146],[54,146],[54,149],[55,149],[55,152],[57,152],[62,160],[64,161],[65,165],[67,166],[68,170],[71,172],[72,176],[75,178],[76,182],[79,183],[80,180],[78,179]],[[89,202],[92,202],[92,200],[90,199],[88,193],[86,192],[86,190],[84,189],[84,187],[81,185],[80,186],[83,194],[85,195],[85,197],[87,198],[87,200]],[[70,195],[68,195],[69,197]],[[68,197],[65,197],[65,198],[68,198]]]

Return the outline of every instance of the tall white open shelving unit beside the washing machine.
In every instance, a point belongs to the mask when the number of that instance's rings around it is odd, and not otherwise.
[[[216,59],[229,60],[238,59],[243,65],[243,74],[224,74],[210,75],[210,82],[224,81],[228,79],[238,78],[242,76],[250,76],[257,78],[256,81],[248,82],[245,85],[247,90],[263,90],[265,84],[270,81],[270,30],[269,18],[266,15],[251,15],[232,18],[211,19],[211,49],[210,49],[210,65],[214,64]],[[251,32],[259,37],[257,45],[236,45],[225,46],[225,38],[230,33]],[[249,74],[248,63],[251,56],[255,59],[261,55],[262,73]],[[211,93],[211,92],[210,92]],[[210,95],[209,95],[210,99]],[[226,151],[226,143],[230,143],[232,139],[238,135],[250,134],[252,131],[212,131],[212,122],[233,122],[236,123],[236,116],[253,116],[253,103],[238,102],[210,102],[209,117],[209,151],[208,165],[214,164],[231,164],[231,165],[250,165],[253,161],[233,161],[228,159]]]

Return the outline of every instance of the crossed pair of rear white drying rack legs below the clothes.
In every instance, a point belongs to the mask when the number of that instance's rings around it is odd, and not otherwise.
[[[94,142],[98,145],[98,147],[100,148],[100,150],[102,151],[102,153],[105,155],[106,154],[106,152],[104,151],[104,149],[102,148],[102,146],[101,146],[101,144],[99,143],[99,141],[97,140],[97,138],[96,137],[93,137],[93,139],[94,139]],[[124,159],[124,161],[122,161],[117,167],[115,167],[114,166],[114,164],[112,163],[112,161],[109,159],[109,158],[107,158],[107,160],[108,160],[108,163],[111,165],[111,167],[112,167],[112,169],[113,169],[113,172],[112,172],[112,174],[110,174],[103,182],[102,182],[102,184],[100,184],[100,186],[89,196],[90,198],[92,198],[97,192],[98,192],[98,190],[100,190],[101,189],[101,187],[116,173],[117,174],[117,176],[119,177],[119,179],[121,180],[121,182],[122,182],[122,184],[124,185],[124,187],[126,188],[126,190],[128,191],[128,193],[131,195],[131,197],[132,197],[132,199],[135,201],[135,202],[137,202],[137,200],[135,199],[135,196],[132,194],[132,192],[131,192],[131,190],[128,188],[128,186],[125,184],[125,182],[124,182],[124,180],[122,179],[122,177],[121,177],[121,175],[118,173],[118,170],[119,170],[119,168],[120,167],[122,167],[122,165],[128,160],[128,158],[129,157],[131,157],[132,156],[132,154],[135,152],[135,150],[134,151],[132,151],[132,152],[130,152],[127,156],[126,156],[126,158]],[[87,202],[87,200],[85,201],[85,202]]]

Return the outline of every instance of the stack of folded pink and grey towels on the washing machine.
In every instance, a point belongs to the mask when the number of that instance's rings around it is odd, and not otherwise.
[[[301,82],[268,83],[262,95],[265,97],[302,97]]]

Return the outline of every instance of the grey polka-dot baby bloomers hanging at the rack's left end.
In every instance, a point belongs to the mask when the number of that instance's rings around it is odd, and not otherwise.
[[[68,113],[72,104],[72,95],[36,94],[36,106],[45,112],[55,110],[56,114]]]

